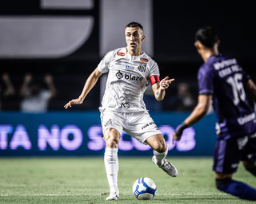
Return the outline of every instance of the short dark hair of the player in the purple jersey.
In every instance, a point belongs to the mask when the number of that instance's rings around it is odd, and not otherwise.
[[[198,29],[198,32],[195,34],[195,41],[200,41],[207,48],[213,48],[214,44],[218,41],[218,31],[212,26]]]

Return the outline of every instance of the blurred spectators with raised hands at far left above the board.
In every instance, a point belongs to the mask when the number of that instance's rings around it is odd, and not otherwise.
[[[18,101],[18,109],[21,112],[47,112],[49,101],[56,96],[56,88],[54,86],[53,77],[50,74],[46,74],[43,82],[46,84],[46,88],[42,87],[41,81],[35,80],[32,74],[27,73],[20,87],[14,87],[9,74],[3,73],[0,86],[1,109],[5,110],[5,103],[10,103],[14,105],[13,108],[15,110],[17,109],[17,107],[15,107],[17,103],[11,102]]]

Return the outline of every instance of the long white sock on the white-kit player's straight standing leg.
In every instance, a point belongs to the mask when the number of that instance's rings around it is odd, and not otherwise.
[[[106,147],[104,163],[110,192],[118,191],[118,148]]]

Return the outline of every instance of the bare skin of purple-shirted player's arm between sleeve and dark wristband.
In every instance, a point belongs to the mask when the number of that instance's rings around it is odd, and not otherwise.
[[[199,120],[206,116],[206,113],[208,112],[210,107],[211,98],[211,95],[199,95],[197,106],[194,108],[193,112],[191,112],[190,116],[186,118],[184,124],[186,124],[187,126],[191,126],[193,124],[196,124]]]

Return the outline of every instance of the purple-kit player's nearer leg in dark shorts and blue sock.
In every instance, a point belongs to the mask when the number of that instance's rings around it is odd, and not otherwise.
[[[235,181],[232,175],[237,171],[243,147],[239,147],[239,139],[218,139],[214,149],[214,171],[216,187],[225,193],[246,200],[256,200],[256,189],[244,182]],[[246,145],[246,143],[244,143]]]

